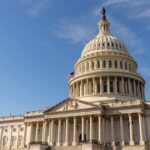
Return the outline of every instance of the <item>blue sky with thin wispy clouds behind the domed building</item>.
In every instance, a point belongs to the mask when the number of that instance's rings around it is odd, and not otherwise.
[[[139,63],[150,100],[149,0],[0,0],[0,116],[68,97],[66,76],[98,32],[102,6],[111,33]]]

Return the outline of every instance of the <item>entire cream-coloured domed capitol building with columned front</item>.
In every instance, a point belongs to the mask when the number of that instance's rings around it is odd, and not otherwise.
[[[98,27],[74,65],[70,97],[1,117],[0,150],[150,150],[150,102],[138,64],[110,33],[105,9]]]

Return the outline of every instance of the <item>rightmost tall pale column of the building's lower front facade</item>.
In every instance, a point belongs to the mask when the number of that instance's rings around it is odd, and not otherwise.
[[[142,114],[139,113],[139,114],[138,114],[138,117],[139,117],[140,145],[144,145]]]

